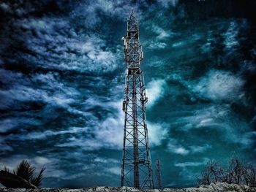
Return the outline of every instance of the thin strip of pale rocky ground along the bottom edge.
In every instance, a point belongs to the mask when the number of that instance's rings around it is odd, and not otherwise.
[[[139,192],[136,188],[113,188],[113,187],[97,187],[97,188],[80,188],[80,189],[65,189],[65,188],[41,188],[41,189],[25,189],[25,188],[0,188],[0,192]],[[211,185],[202,185],[199,188],[165,188],[163,190],[145,190],[145,192],[256,192],[256,187],[247,185],[236,185],[227,183],[211,183]]]

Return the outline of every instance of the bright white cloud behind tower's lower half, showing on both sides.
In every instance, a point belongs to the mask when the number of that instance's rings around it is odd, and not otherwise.
[[[100,104],[94,100],[90,100],[91,104]],[[78,128],[78,134],[86,132],[86,134],[92,134],[94,137],[70,137],[66,142],[58,144],[58,147],[82,147],[84,150],[98,150],[100,148],[114,148],[121,149],[123,145],[123,131],[124,131],[124,112],[121,110],[122,101],[108,102],[102,105],[109,109],[113,109],[114,115],[110,115],[102,122],[91,121],[88,123],[91,127]],[[148,123],[148,137],[150,144],[161,145],[162,139],[165,139],[167,135],[167,128],[164,124],[160,123]],[[71,129],[66,131],[56,131],[52,134],[64,134],[71,133]],[[37,134],[42,135],[42,134]],[[44,135],[47,135],[45,133]],[[34,136],[33,136],[34,137]],[[28,138],[28,137],[26,137]],[[36,138],[36,137],[34,137]]]

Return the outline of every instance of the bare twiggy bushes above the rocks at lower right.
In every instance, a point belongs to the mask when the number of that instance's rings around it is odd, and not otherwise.
[[[217,161],[208,162],[198,179],[198,185],[210,185],[217,182],[255,186],[256,168],[251,164],[244,164],[236,156],[230,159],[227,169],[222,168],[222,165]]]

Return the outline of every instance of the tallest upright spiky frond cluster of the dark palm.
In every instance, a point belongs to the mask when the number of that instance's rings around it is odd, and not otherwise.
[[[34,174],[34,166],[31,166],[29,161],[23,160],[18,165],[17,171],[15,172],[18,176],[23,177],[25,180],[31,180]]]

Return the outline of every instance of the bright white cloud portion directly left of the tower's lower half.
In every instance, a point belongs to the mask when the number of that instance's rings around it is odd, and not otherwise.
[[[94,104],[99,103],[95,102]],[[116,114],[102,121],[91,118],[87,121],[86,127],[70,127],[61,131],[31,132],[26,135],[19,135],[17,139],[45,139],[59,134],[72,134],[64,143],[56,144],[56,147],[81,147],[83,150],[121,149],[124,128],[121,101],[108,102],[103,105],[116,111]],[[86,133],[89,137],[80,137],[83,133]]]

